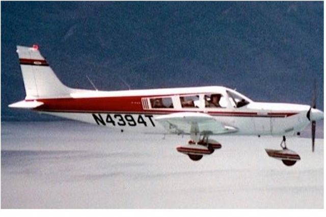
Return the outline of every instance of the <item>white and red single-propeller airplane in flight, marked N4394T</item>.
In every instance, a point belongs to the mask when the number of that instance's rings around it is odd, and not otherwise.
[[[9,105],[41,114],[112,127],[121,132],[189,135],[177,151],[194,161],[222,145],[211,136],[273,135],[282,137],[281,150],[265,149],[286,166],[300,155],[286,147],[286,136],[295,136],[312,125],[312,151],[316,121],[323,112],[312,105],[256,102],[222,86],[148,90],[98,91],[65,86],[41,55],[38,45],[17,46],[25,99]]]

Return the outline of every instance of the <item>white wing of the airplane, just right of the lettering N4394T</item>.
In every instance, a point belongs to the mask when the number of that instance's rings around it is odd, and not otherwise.
[[[164,126],[170,133],[176,134],[224,134],[236,132],[237,128],[227,126],[214,117],[195,112],[180,112],[161,115],[155,120]]]

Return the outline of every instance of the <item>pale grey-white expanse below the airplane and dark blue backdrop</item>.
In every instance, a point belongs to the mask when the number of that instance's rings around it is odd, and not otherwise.
[[[269,158],[281,138],[215,137],[198,162],[188,137],[78,122],[3,122],[2,208],[323,208],[323,139],[288,138],[293,167]]]

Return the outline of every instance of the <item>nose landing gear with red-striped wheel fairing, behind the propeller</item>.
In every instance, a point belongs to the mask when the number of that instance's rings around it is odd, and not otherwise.
[[[286,138],[284,135],[280,146],[282,150],[265,149],[265,151],[268,156],[282,160],[283,164],[286,166],[293,166],[296,161],[300,160],[300,155],[286,147]]]

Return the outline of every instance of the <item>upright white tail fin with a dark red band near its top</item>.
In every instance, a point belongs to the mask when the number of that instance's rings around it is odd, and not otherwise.
[[[72,93],[59,80],[55,72],[42,57],[38,45],[17,46],[20,68],[24,81],[26,100],[38,98],[65,97]]]

